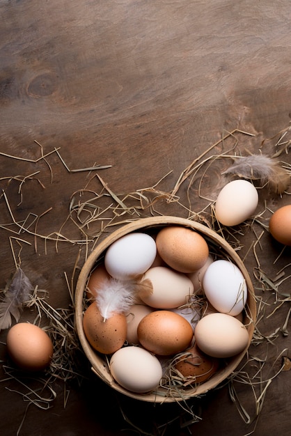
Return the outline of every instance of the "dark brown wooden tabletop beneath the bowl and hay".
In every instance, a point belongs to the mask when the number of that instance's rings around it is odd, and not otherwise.
[[[20,264],[52,308],[70,311],[69,289],[97,235],[138,218],[136,209],[121,213],[118,201],[136,208],[140,190],[157,198],[141,217],[209,222],[228,155],[281,151],[291,164],[289,0],[2,0],[0,15],[2,290]],[[190,164],[201,166],[179,184]],[[166,201],[175,187],[175,201]],[[226,232],[263,311],[244,382],[237,377],[189,400],[197,422],[186,406],[116,394],[82,356],[72,362],[82,376],[50,377],[49,387],[26,380],[9,366],[3,329],[0,434],[290,434],[290,251],[282,253],[267,230],[288,194],[262,188],[260,223]],[[94,197],[94,207],[82,209]],[[114,206],[119,216],[107,226]],[[90,220],[93,210],[102,219]],[[283,270],[284,280],[268,288],[258,270],[272,280]],[[35,318],[26,307],[20,320]],[[42,400],[32,403],[35,384]]]

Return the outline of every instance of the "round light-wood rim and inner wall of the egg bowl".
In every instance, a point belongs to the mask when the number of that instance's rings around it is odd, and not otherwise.
[[[198,233],[200,233],[200,235],[203,236],[203,238],[205,238],[205,240],[207,240],[208,243],[210,243],[212,247],[216,249],[217,253],[219,253],[219,256],[222,255],[224,258],[229,258],[229,260],[235,263],[235,265],[239,267],[239,270],[241,270],[242,274],[244,275],[244,279],[246,280],[246,286],[248,288],[248,297],[244,309],[243,322],[246,325],[246,329],[249,333],[249,343],[246,346],[245,350],[239,353],[239,355],[228,359],[227,364],[223,368],[220,368],[217,373],[212,375],[209,380],[206,380],[205,382],[198,384],[194,387],[182,388],[181,396],[177,396],[177,394],[165,394],[165,391],[162,387],[159,387],[157,391],[151,392],[149,394],[136,394],[134,392],[127,391],[127,389],[124,389],[119,384],[117,384],[115,380],[113,380],[113,377],[111,376],[111,373],[109,371],[107,359],[105,359],[104,356],[100,353],[95,352],[95,350],[91,348],[91,345],[86,339],[83,329],[83,315],[85,309],[84,295],[86,291],[86,285],[88,283],[88,278],[90,277],[90,274],[93,271],[98,259],[104,256],[104,252],[113,242],[115,242],[122,236],[135,231],[152,233],[154,230],[158,231],[164,226],[173,225],[184,226],[187,228],[191,228],[194,231],[197,231]],[[131,223],[111,233],[111,235],[109,235],[102,242],[100,242],[100,244],[97,245],[97,247],[92,251],[91,255],[88,256],[88,259],[84,263],[84,266],[82,267],[79,274],[75,292],[75,323],[77,328],[77,334],[79,336],[81,347],[83,348],[86,357],[91,363],[92,371],[98,377],[100,377],[101,380],[109,384],[109,386],[111,386],[116,391],[125,394],[126,396],[129,396],[131,398],[135,398],[136,400],[148,401],[150,403],[173,403],[174,401],[187,400],[191,397],[205,394],[210,389],[217,387],[217,385],[223,382],[223,380],[225,380],[228,375],[235,371],[235,368],[237,368],[240,361],[242,361],[244,355],[246,354],[246,350],[249,348],[251,339],[253,337],[255,316],[256,304],[251,278],[249,277],[249,273],[247,272],[244,263],[239,258],[235,250],[230,247],[230,244],[228,244],[226,240],[221,238],[221,236],[217,235],[217,233],[212,231],[207,226],[200,224],[196,221],[191,221],[189,219],[183,219],[180,217],[164,216],[143,218],[137,221],[132,221]]]

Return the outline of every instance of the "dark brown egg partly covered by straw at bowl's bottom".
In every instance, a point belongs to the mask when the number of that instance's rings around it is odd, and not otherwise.
[[[196,344],[187,352],[189,355],[184,355],[175,364],[175,368],[183,377],[194,377],[194,382],[202,383],[217,372],[219,359],[205,355]]]

